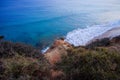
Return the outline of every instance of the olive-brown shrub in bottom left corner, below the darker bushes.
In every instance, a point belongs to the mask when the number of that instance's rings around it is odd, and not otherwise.
[[[38,59],[17,55],[1,61],[1,80],[47,80],[50,75],[49,64]]]

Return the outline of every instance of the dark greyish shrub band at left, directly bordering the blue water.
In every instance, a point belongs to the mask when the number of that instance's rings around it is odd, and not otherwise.
[[[0,58],[13,57],[18,53],[19,55],[26,57],[39,58],[43,55],[40,50],[22,43],[13,43],[9,41],[0,41]]]

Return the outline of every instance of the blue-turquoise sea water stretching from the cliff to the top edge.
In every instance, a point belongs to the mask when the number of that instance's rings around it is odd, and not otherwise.
[[[119,20],[119,14],[120,0],[2,0],[0,35],[48,46],[74,29]]]

